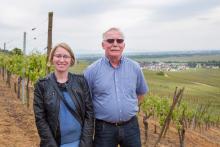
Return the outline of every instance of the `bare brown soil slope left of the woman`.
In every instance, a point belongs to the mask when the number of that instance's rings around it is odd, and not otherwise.
[[[0,146],[37,147],[33,111],[27,109],[0,78]]]

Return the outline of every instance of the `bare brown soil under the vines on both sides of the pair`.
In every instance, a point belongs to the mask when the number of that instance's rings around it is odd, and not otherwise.
[[[32,100],[30,106],[22,104],[17,98],[14,90],[6,85],[6,82],[0,76],[0,147],[38,147],[39,136],[35,126],[35,120],[32,109]],[[149,137],[145,142],[144,125],[142,123],[142,114],[139,114],[139,124],[141,128],[141,139],[143,147],[153,147],[158,136],[160,128],[158,123],[149,120]],[[156,124],[157,132],[154,133]],[[165,138],[162,138],[159,147],[179,147],[179,138],[173,125],[169,128]],[[186,131],[186,147],[220,147],[220,129],[210,128],[208,130]]]

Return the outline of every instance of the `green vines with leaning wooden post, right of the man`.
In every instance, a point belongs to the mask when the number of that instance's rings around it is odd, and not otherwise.
[[[202,131],[210,129],[210,127],[220,127],[220,116],[210,114],[210,104],[195,105],[192,108],[186,101],[182,100],[183,92],[184,88],[176,88],[173,98],[148,95],[144,100],[141,110],[144,113],[145,143],[148,141],[150,119],[158,121],[161,128],[155,146],[160,143],[162,137],[166,136],[170,124],[177,129],[180,147],[185,146],[185,133],[187,129],[199,129]],[[155,123],[155,133],[156,125]]]

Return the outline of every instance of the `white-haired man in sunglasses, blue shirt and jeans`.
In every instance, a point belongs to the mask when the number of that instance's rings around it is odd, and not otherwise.
[[[140,147],[136,113],[148,91],[138,63],[122,56],[124,35],[118,28],[103,34],[105,57],[90,65],[88,81],[96,117],[95,147]]]

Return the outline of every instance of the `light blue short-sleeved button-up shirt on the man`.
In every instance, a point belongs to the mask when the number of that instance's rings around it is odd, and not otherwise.
[[[95,116],[104,121],[127,121],[135,116],[137,96],[148,91],[139,64],[126,57],[121,58],[117,68],[102,57],[84,75],[91,90]]]

